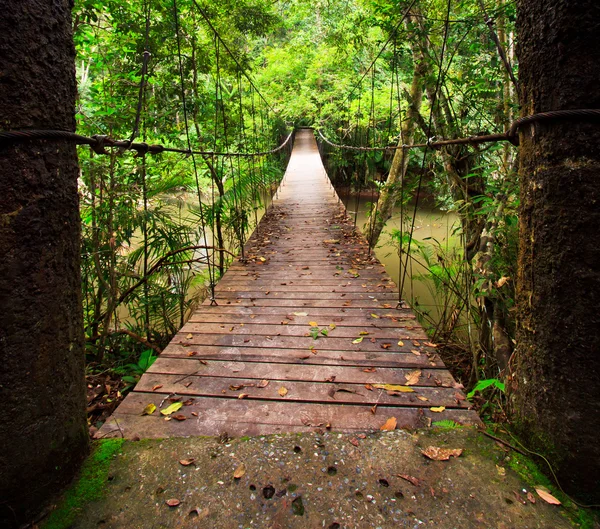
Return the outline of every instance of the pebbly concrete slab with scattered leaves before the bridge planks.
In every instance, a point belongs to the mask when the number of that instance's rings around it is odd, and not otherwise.
[[[463,452],[434,461],[422,454],[430,446]],[[577,526],[511,468],[519,469],[520,457],[474,428],[126,441],[110,463],[104,497],[69,526]]]

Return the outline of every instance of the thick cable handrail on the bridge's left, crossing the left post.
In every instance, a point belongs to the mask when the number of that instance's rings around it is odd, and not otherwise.
[[[185,155],[200,156],[224,156],[253,158],[258,156],[268,156],[281,151],[291,140],[294,131],[290,131],[286,139],[279,146],[269,151],[261,152],[218,152],[218,151],[197,151],[193,149],[180,149],[176,147],[167,147],[165,145],[151,145],[145,142],[132,142],[130,140],[114,140],[108,136],[94,135],[91,137],[82,136],[66,130],[9,130],[0,131],[0,146],[11,143],[23,143],[34,140],[53,140],[66,141],[76,145],[89,145],[96,154],[108,154],[107,148],[118,148],[124,151],[136,151],[138,155],[160,154],[163,152],[174,152]]]

